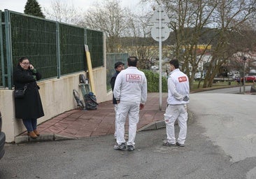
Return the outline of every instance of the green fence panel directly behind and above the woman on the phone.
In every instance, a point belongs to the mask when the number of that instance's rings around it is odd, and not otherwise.
[[[28,57],[43,78],[57,76],[55,22],[10,13],[10,29],[13,66]]]

